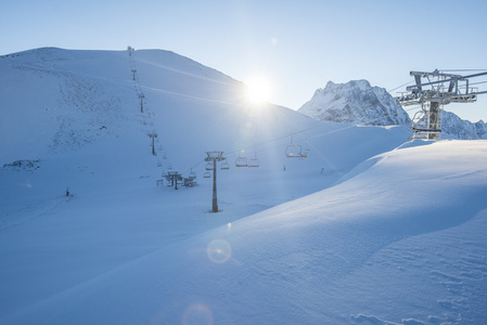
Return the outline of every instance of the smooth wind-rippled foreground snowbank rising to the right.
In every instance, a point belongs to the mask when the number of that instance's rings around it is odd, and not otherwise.
[[[164,247],[4,320],[477,323],[487,312],[486,158],[486,142],[386,153],[339,185]]]

